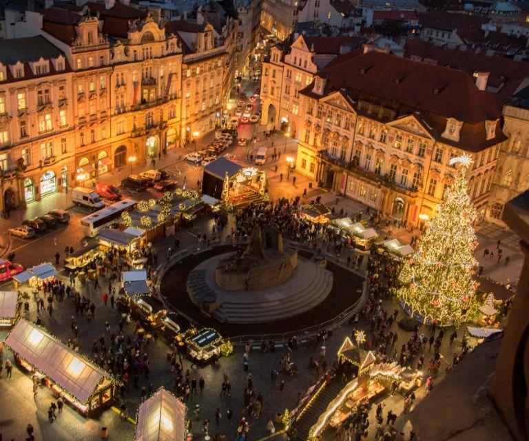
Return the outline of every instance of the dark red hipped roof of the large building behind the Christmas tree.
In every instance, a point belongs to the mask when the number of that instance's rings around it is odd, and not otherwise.
[[[340,61],[344,57],[345,61]],[[502,103],[490,92],[480,91],[467,72],[428,65],[372,51],[354,57],[346,54],[318,73],[327,79],[325,94],[342,90],[353,101],[372,101],[391,107],[398,116],[419,112],[441,134],[446,119],[463,121],[459,143],[444,143],[478,151],[505,139],[501,128],[486,140],[486,120],[500,119]],[[312,86],[302,93],[313,96]]]

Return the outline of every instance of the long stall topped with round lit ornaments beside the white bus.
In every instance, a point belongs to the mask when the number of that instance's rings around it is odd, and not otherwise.
[[[165,192],[162,198],[138,202],[136,209],[122,214],[119,224],[143,232],[143,239],[154,243],[158,238],[174,234],[175,229],[196,216],[197,205],[201,203],[198,196],[195,190],[179,188]]]

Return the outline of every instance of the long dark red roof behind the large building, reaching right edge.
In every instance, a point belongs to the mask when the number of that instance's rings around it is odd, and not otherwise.
[[[417,57],[419,61],[435,61],[438,65],[464,70],[470,75],[478,71],[489,72],[490,85],[498,87],[504,83],[504,87],[498,92],[501,99],[510,97],[521,81],[529,76],[529,63],[501,55],[488,56],[485,52],[447,49],[419,39],[408,39],[404,51],[404,57]]]

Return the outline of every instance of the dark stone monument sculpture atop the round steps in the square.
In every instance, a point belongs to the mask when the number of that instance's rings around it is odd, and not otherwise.
[[[264,234],[255,227],[245,249],[220,261],[215,281],[225,291],[266,289],[289,280],[297,265],[298,252],[284,249],[275,227],[267,227]]]

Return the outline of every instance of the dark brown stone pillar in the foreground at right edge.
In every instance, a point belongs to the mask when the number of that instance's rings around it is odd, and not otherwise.
[[[502,220],[520,236],[520,280],[489,394],[519,441],[529,438],[529,191],[508,202]]]

